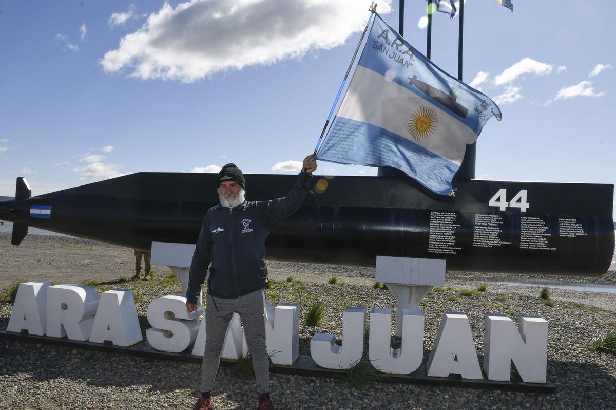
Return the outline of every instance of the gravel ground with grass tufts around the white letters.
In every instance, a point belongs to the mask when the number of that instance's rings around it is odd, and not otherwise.
[[[150,282],[119,280],[132,275],[132,253],[126,248],[47,236],[28,236],[19,247],[8,243],[8,236],[0,234],[1,286],[15,280],[47,279],[59,283],[97,281],[99,292],[132,289],[144,326],[149,303],[179,288],[169,269],[162,266],[155,267],[157,275]],[[346,306],[394,307],[387,290],[373,289],[373,269],[274,261],[269,266],[270,277],[277,280],[267,290],[269,301],[302,306],[301,354],[308,354],[310,337],[315,333],[341,337]],[[293,279],[286,281],[289,276]],[[339,278],[337,284],[326,283],[332,276]],[[551,289],[553,307],[543,303],[538,287],[488,285],[487,292],[460,295],[460,290],[475,289],[486,277],[452,273],[447,287],[424,298],[426,355],[446,311],[463,311],[469,316],[480,362],[486,313],[505,313],[514,321],[518,314],[538,315],[549,322],[548,379],[556,385],[553,395],[379,382],[365,382],[358,389],[343,379],[272,374],[272,399],[277,408],[616,408],[616,355],[588,350],[596,335],[616,330],[616,294]],[[610,272],[602,279],[564,280],[614,284],[615,277]],[[325,303],[325,317],[320,326],[307,327],[304,314],[317,301]],[[9,303],[0,305],[0,329],[6,329],[10,310]],[[0,409],[192,408],[199,380],[197,364],[0,340]],[[254,382],[232,368],[221,368],[214,393],[217,409],[251,409],[256,403]]]

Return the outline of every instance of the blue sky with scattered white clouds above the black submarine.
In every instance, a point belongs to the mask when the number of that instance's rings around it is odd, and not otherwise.
[[[495,99],[476,178],[616,182],[616,34],[573,0],[468,0],[464,81]],[[0,0],[0,195],[139,171],[296,172],[314,150],[370,1]],[[398,1],[379,1],[398,27]],[[424,52],[423,0],[405,38]],[[432,61],[457,75],[458,19]],[[482,81],[483,80],[483,81]],[[376,174],[320,163],[318,174]]]

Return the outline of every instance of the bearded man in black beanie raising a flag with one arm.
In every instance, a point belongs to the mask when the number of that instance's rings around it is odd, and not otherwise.
[[[274,409],[269,396],[269,356],[265,347],[264,287],[269,282],[265,239],[272,224],[293,215],[304,203],[312,172],[316,169],[314,155],[308,155],[286,197],[258,202],[245,200],[244,175],[235,164],[223,166],[218,174],[221,203],[205,214],[190,264],[186,292],[188,312],[197,310],[197,298],[209,271],[201,397],[193,410],[214,409],[214,379],[233,313],[240,315],[253,358],[259,395],[257,410]]]

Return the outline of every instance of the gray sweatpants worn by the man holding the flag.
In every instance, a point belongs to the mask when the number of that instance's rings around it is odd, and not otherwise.
[[[221,363],[222,345],[233,313],[240,314],[246,342],[253,357],[257,393],[269,392],[269,356],[265,347],[265,292],[257,290],[239,298],[215,298],[207,294],[205,306],[205,352],[201,373],[201,392],[211,392]]]

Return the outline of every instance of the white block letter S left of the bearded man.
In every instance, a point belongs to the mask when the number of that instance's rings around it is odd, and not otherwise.
[[[200,322],[197,312],[188,314],[186,297],[166,295],[148,306],[148,322],[151,327],[145,332],[150,345],[156,350],[179,353],[192,345],[197,338]]]

